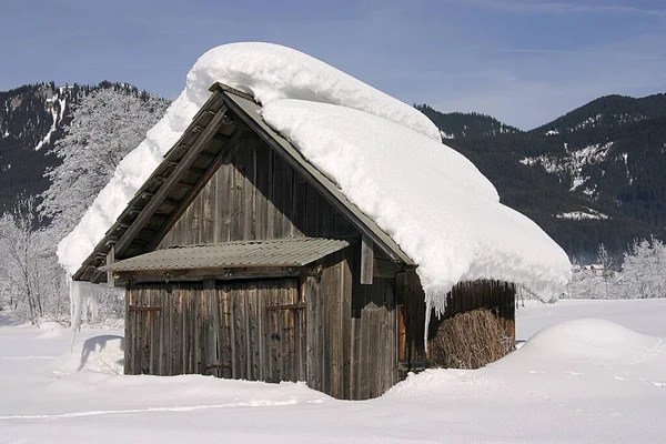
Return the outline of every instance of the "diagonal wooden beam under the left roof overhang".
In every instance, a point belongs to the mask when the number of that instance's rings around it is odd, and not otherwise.
[[[192,144],[192,148],[183,157],[180,163],[175,167],[171,175],[162,183],[162,185],[155,192],[155,195],[148,202],[143,208],[143,211],[137,216],[130,228],[123,233],[118,243],[115,244],[115,253],[121,255],[122,251],[129,246],[134,236],[141,231],[141,229],[148,223],[155,210],[162,204],[162,201],[169,194],[171,186],[178,183],[183,173],[190,169],[196,157],[205,149],[208,143],[213,139],[213,135],[218,133],[218,129],[222,123],[222,118],[226,112],[228,108],[222,105],[211,123],[201,133],[199,139]]]

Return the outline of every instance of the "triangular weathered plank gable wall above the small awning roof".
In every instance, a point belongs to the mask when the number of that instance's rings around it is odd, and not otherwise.
[[[249,132],[159,248],[350,234],[355,234],[350,222]]]

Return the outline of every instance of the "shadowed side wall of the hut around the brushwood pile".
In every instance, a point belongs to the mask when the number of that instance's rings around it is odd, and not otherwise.
[[[425,330],[425,294],[413,271],[396,276],[398,312],[398,359],[405,369],[428,365],[423,342]],[[446,311],[441,319],[431,313],[428,339],[433,339],[441,321],[474,309],[492,311],[506,334],[515,341],[515,285],[500,281],[462,282],[446,296]]]

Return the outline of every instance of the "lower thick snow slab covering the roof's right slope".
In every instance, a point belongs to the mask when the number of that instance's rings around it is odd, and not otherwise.
[[[562,292],[567,255],[501,204],[458,152],[344,107],[280,100],[262,115],[418,264],[433,306],[442,310],[453,285],[476,279],[521,283],[546,300]]]

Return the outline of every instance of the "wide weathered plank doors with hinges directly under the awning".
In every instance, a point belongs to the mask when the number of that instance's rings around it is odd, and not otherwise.
[[[135,284],[127,294],[127,374],[305,380],[295,278]]]

